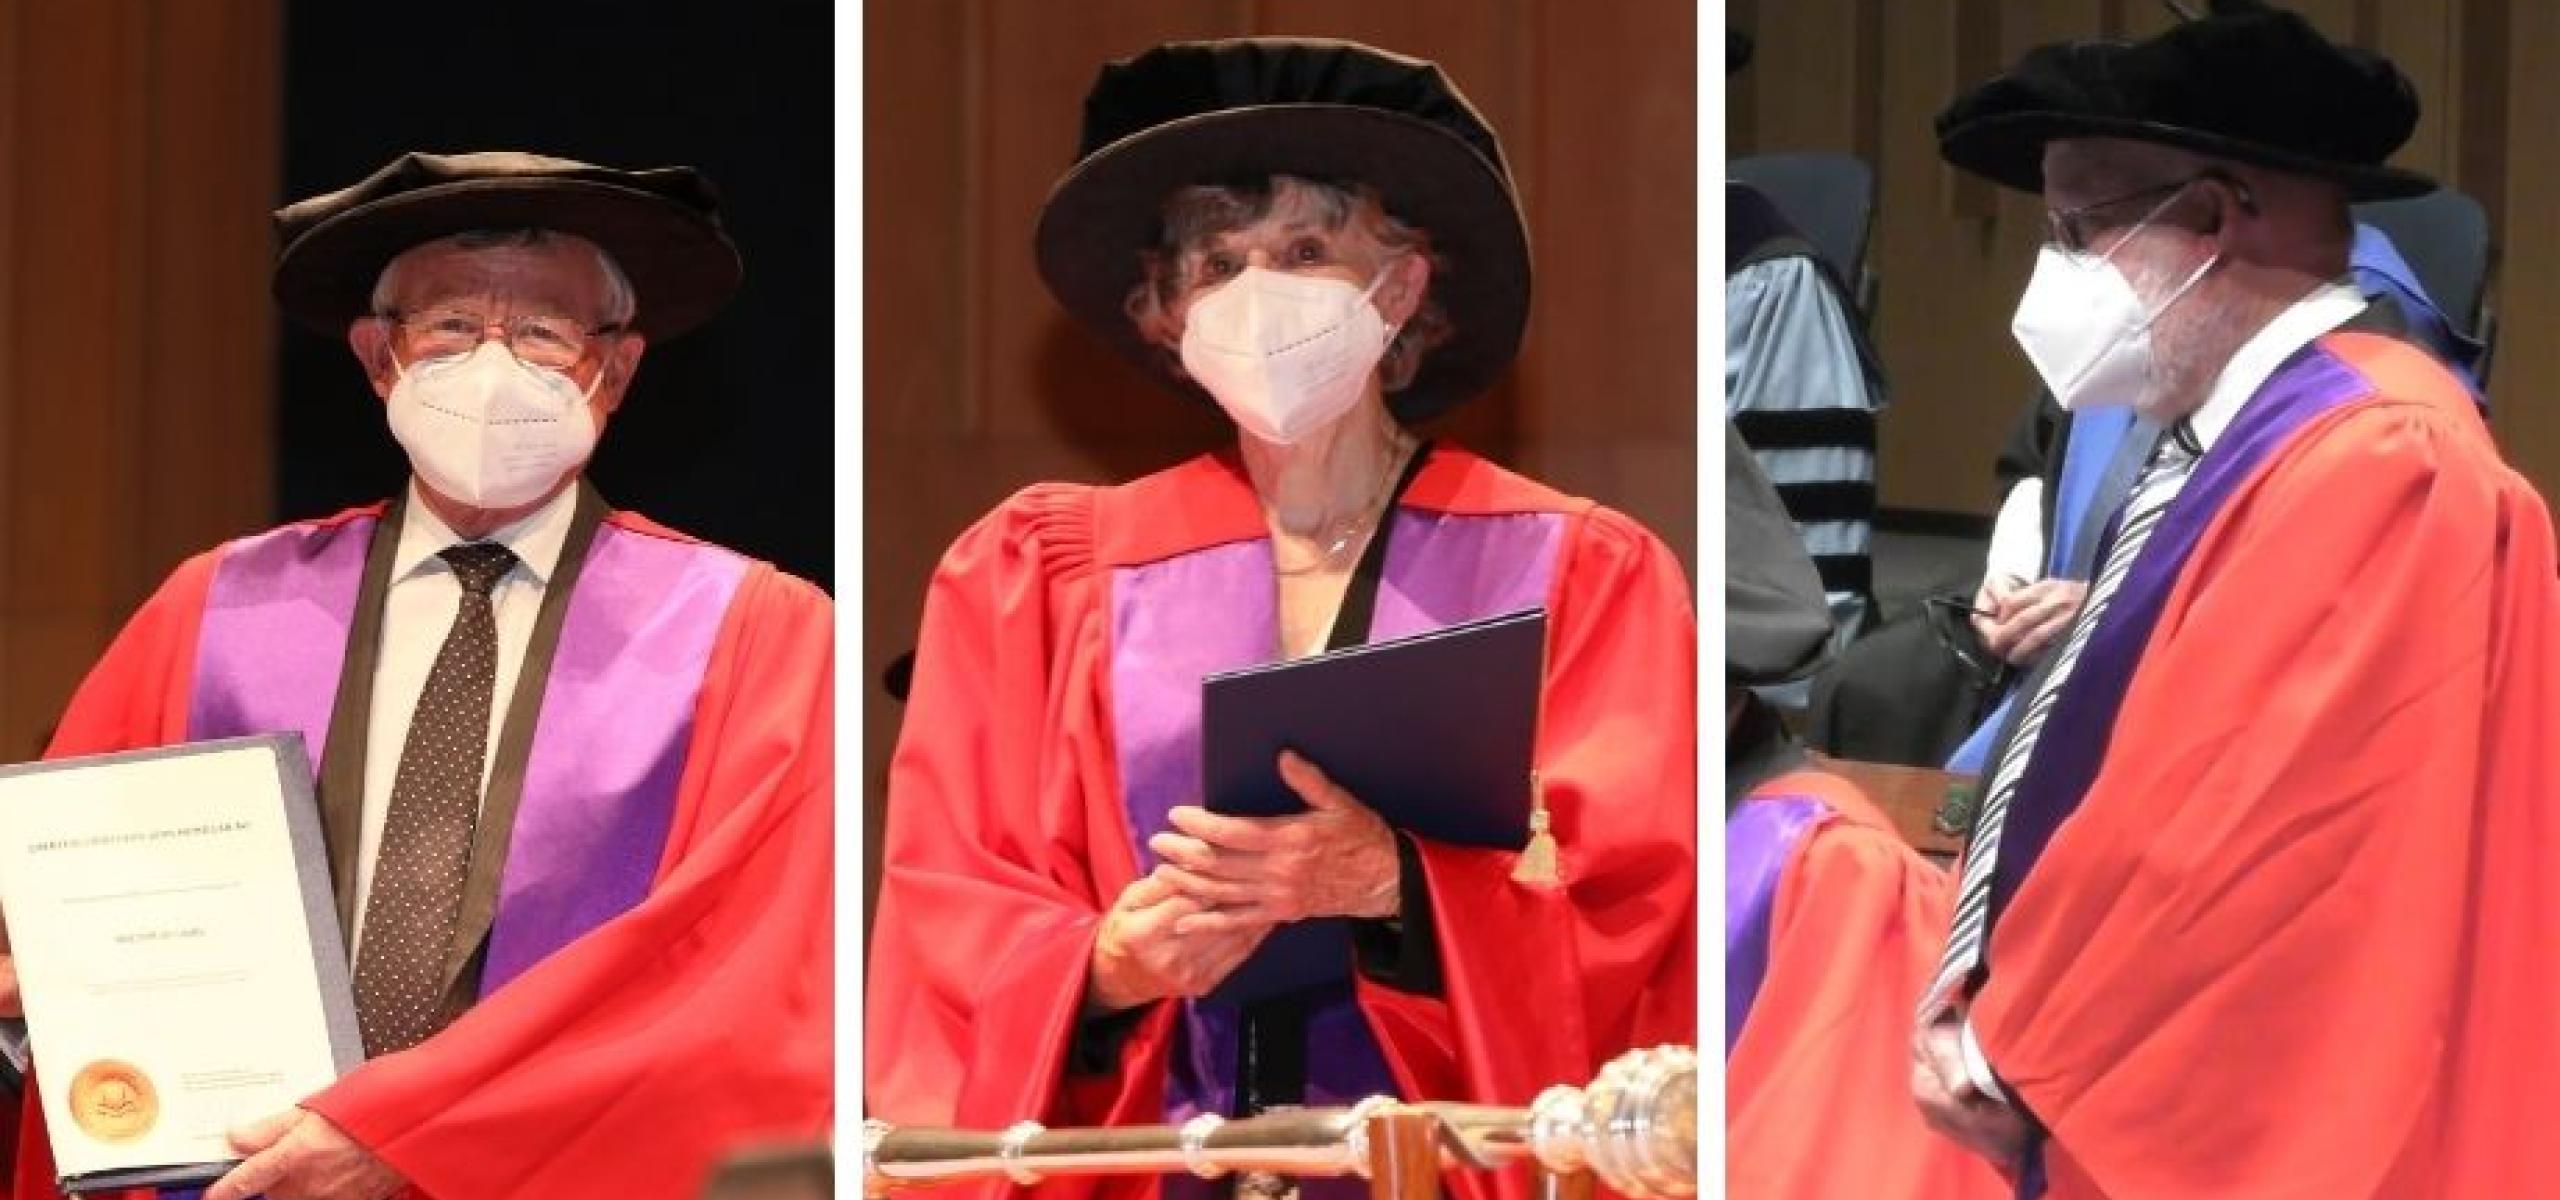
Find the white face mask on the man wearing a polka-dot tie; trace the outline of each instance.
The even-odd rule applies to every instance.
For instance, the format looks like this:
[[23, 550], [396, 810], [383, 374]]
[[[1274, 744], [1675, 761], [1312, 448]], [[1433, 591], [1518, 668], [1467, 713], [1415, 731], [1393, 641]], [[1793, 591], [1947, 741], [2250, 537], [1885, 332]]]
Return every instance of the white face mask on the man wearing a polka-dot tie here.
[[[417, 478], [474, 509], [532, 504], [596, 448], [586, 412], [594, 384], [579, 391], [558, 371], [538, 371], [499, 340], [453, 358], [399, 366], [384, 404], [392, 438], [410, 453]], [[596, 384], [604, 374], [596, 371]]]

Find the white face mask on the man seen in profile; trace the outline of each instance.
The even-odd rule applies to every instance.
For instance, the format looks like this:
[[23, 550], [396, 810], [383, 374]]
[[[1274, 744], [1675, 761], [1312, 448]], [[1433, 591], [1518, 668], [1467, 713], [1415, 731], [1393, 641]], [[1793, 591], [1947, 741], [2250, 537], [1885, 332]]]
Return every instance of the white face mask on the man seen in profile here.
[[2158, 374], [2150, 348], [2153, 322], [2186, 299], [2186, 292], [2220, 261], [2220, 253], [2207, 258], [2168, 302], [2145, 312], [2143, 297], [2112, 261], [2045, 246], [2035, 253], [2035, 276], [2017, 299], [2010, 335], [2063, 409], [2140, 404]]

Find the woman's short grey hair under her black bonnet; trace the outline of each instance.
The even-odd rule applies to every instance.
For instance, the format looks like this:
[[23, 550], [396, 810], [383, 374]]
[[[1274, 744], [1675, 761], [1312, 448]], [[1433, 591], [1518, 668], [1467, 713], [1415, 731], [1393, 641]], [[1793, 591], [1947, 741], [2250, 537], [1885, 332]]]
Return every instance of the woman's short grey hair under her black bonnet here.
[[1324, 220], [1324, 228], [1339, 233], [1344, 225], [1359, 225], [1390, 258], [1421, 253], [1431, 261], [1431, 289], [1413, 310], [1413, 317], [1395, 330], [1395, 340], [1388, 343], [1388, 353], [1377, 363], [1380, 386], [1385, 391], [1403, 391], [1421, 371], [1423, 353], [1457, 333], [1457, 325], [1449, 322], [1449, 310], [1439, 302], [1449, 264], [1439, 253], [1431, 253], [1431, 233], [1405, 225], [1388, 212], [1377, 189], [1367, 184], [1329, 184], [1324, 179], [1275, 174], [1260, 182], [1175, 189], [1165, 197], [1165, 220], [1157, 243], [1139, 251], [1139, 281], [1129, 289], [1129, 299], [1121, 307], [1137, 322], [1139, 335], [1172, 361], [1175, 374], [1183, 374], [1170, 304], [1190, 287], [1185, 253], [1221, 233], [1234, 233], [1267, 217], [1288, 187], [1306, 192], [1308, 207]]

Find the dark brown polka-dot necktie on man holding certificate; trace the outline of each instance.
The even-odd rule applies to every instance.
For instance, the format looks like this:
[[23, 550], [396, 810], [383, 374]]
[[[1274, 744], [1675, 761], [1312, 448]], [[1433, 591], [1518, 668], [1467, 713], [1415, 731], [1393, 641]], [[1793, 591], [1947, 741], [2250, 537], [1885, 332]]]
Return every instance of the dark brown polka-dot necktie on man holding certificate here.
[[461, 583], [428, 686], [410, 716], [410, 739], [392, 775], [374, 890], [356, 952], [356, 1021], [366, 1054], [392, 1054], [443, 1029], [445, 952], [471, 872], [481, 768], [489, 760], [489, 704], [497, 693], [497, 612], [489, 591], [515, 565], [494, 542], [443, 550]]

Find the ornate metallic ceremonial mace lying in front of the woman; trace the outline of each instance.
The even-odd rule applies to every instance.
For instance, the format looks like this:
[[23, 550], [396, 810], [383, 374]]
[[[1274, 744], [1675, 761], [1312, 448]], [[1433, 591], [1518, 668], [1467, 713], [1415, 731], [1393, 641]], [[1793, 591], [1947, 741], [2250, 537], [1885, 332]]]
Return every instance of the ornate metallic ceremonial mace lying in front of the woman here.
[[1398, 1103], [1372, 1095], [1349, 1108], [1295, 1108], [1239, 1121], [1198, 1116], [1180, 1126], [1042, 1128], [1001, 1133], [863, 1123], [863, 1192], [886, 1195], [955, 1180], [1050, 1174], [1229, 1172], [1359, 1174], [1380, 1180], [1390, 1146], [1377, 1118], [1423, 1116], [1439, 1162], [1492, 1169], [1536, 1162], [1554, 1174], [1592, 1172], [1628, 1197], [1697, 1192], [1697, 1052], [1656, 1046], [1620, 1054], [1590, 1087], [1549, 1087], [1528, 1108]]

